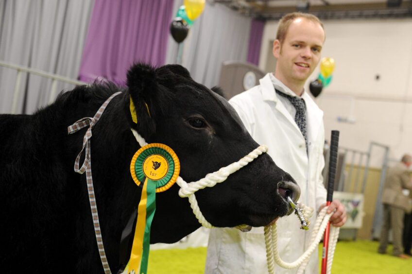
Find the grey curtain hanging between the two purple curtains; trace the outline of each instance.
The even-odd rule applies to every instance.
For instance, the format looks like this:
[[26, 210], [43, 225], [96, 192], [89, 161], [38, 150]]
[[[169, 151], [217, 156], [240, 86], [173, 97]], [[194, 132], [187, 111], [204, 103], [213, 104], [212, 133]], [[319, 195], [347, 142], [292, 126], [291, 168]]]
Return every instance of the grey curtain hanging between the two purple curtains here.
[[[177, 10], [178, 5], [175, 8]], [[173, 17], [175, 14], [176, 11]], [[206, 1], [202, 15], [195, 20], [183, 42], [182, 65], [189, 69], [195, 81], [207, 87], [216, 86], [224, 61], [246, 61], [251, 20], [222, 4]], [[166, 62], [175, 63], [176, 56], [177, 44], [171, 38]]]

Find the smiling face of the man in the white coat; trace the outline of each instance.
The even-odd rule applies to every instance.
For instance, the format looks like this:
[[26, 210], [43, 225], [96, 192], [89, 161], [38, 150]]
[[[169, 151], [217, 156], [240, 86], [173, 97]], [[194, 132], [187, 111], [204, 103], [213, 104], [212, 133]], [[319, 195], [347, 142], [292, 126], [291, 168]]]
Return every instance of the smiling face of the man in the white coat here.
[[303, 86], [319, 63], [324, 41], [325, 32], [320, 24], [296, 18], [283, 43], [274, 42], [276, 78], [289, 87]]

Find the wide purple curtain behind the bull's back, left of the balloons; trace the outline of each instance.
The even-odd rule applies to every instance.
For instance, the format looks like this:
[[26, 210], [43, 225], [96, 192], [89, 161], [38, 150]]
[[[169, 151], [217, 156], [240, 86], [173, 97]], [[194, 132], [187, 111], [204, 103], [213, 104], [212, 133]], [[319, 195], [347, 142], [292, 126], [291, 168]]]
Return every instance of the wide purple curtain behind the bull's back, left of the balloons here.
[[165, 63], [173, 0], [95, 0], [79, 79], [124, 85], [136, 61]]

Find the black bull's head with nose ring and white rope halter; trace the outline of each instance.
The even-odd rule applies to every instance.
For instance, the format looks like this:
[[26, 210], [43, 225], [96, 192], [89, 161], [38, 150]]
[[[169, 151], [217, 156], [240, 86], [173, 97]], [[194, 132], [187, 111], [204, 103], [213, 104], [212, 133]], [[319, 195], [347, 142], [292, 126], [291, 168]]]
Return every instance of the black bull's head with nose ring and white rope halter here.
[[[180, 176], [187, 182], [238, 161], [258, 147], [233, 107], [194, 82], [181, 66], [154, 69], [137, 64], [128, 72], [127, 85], [138, 121], [130, 116], [130, 102], [124, 102], [130, 126], [148, 143], [170, 146], [180, 159]], [[178, 197], [177, 190], [174, 185], [156, 194], [152, 242], [176, 241], [199, 227], [189, 202]], [[199, 190], [196, 197], [209, 223], [233, 227], [268, 225], [291, 213], [287, 196], [296, 201], [299, 194], [292, 177], [262, 154], [225, 182]]]

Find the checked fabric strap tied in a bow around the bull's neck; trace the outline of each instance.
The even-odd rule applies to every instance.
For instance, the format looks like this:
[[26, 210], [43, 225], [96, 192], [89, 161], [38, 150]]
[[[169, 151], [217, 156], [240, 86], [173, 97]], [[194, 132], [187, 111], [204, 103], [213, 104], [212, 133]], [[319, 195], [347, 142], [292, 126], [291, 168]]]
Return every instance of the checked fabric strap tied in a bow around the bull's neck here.
[[[93, 118], [90, 118], [90, 117], [82, 118], [67, 128], [68, 134], [73, 134], [81, 130], [82, 128], [85, 128], [86, 126], [88, 126], [85, 137], [83, 137], [83, 148], [80, 151], [80, 153], [77, 155], [76, 161], [74, 162], [74, 171], [80, 174], [83, 174], [86, 171], [87, 192], [89, 195], [90, 209], [91, 209], [91, 214], [93, 217], [94, 232], [96, 235], [97, 246], [99, 248], [100, 259], [102, 260], [103, 269], [104, 269], [105, 274], [111, 274], [111, 271], [109, 268], [109, 264], [107, 263], [106, 254], [104, 252], [102, 232], [100, 230], [100, 223], [99, 223], [99, 215], [97, 214], [96, 198], [94, 196], [93, 179], [91, 176], [90, 138], [92, 136], [91, 129], [102, 116], [104, 109], [109, 104], [109, 102], [115, 96], [119, 95], [120, 93], [121, 92], [116, 92], [112, 96], [110, 96], [106, 100], [106, 102], [104, 102], [103, 105], [99, 108], [99, 110], [97, 111], [97, 113], [94, 115]], [[80, 157], [83, 154], [83, 151], [85, 151], [85, 149], [86, 149], [85, 161], [83, 162], [82, 167], [79, 168]]]

